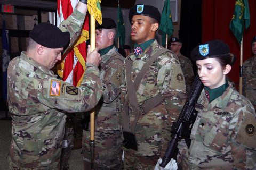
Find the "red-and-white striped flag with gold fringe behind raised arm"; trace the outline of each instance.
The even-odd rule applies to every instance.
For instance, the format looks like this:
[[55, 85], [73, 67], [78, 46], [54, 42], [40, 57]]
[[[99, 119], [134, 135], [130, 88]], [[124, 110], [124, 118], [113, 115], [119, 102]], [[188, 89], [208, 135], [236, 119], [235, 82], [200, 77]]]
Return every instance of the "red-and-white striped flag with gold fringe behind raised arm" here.
[[[57, 25], [68, 18], [79, 0], [58, 0]], [[86, 15], [81, 36], [78, 37], [73, 49], [62, 56], [62, 61], [57, 65], [57, 71], [62, 80], [80, 86], [85, 72], [86, 40], [89, 39], [89, 17]]]

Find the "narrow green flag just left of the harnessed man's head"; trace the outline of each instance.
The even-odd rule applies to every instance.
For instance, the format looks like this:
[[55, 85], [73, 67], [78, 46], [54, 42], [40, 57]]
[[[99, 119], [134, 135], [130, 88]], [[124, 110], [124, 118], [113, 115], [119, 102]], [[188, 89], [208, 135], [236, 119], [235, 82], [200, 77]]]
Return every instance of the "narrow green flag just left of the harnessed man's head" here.
[[120, 46], [123, 46], [125, 43], [125, 27], [123, 14], [119, 4], [117, 8], [117, 37], [119, 37]]

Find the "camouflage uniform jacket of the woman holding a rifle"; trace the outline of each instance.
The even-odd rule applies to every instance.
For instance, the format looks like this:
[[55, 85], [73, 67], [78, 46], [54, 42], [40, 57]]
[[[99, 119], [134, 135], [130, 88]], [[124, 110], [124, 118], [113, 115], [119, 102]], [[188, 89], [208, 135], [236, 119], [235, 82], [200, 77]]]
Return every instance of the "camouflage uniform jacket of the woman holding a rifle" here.
[[203, 90], [196, 105], [189, 150], [183, 169], [255, 169], [255, 110], [231, 83], [210, 104]]

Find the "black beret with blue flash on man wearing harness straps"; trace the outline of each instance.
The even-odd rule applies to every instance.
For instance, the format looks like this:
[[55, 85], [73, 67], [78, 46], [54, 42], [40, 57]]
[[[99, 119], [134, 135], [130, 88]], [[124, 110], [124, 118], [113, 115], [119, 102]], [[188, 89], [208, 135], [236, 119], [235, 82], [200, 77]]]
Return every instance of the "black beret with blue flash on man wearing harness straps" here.
[[159, 23], [161, 20], [161, 14], [158, 9], [154, 6], [144, 5], [144, 4], [137, 4], [134, 5], [131, 10], [129, 11], [129, 20], [132, 21], [132, 16], [134, 15], [143, 15], [149, 16], [151, 18], [156, 19]]

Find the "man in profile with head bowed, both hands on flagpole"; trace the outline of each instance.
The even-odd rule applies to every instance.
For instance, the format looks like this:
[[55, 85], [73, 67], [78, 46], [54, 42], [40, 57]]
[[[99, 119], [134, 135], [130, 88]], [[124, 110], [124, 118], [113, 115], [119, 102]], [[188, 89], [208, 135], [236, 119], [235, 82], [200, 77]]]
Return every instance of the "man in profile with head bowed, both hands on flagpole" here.
[[58, 79], [51, 69], [61, 60], [64, 47], [71, 47], [81, 33], [87, 12], [84, 3], [78, 2], [59, 27], [36, 25], [29, 33], [26, 52], [9, 63], [7, 95], [13, 135], [9, 169], [69, 169], [69, 156], [62, 157], [67, 156], [62, 147], [71, 151], [71, 141], [65, 142], [64, 137], [66, 113], [86, 112], [100, 100], [100, 54], [97, 49], [88, 53], [80, 87]]

